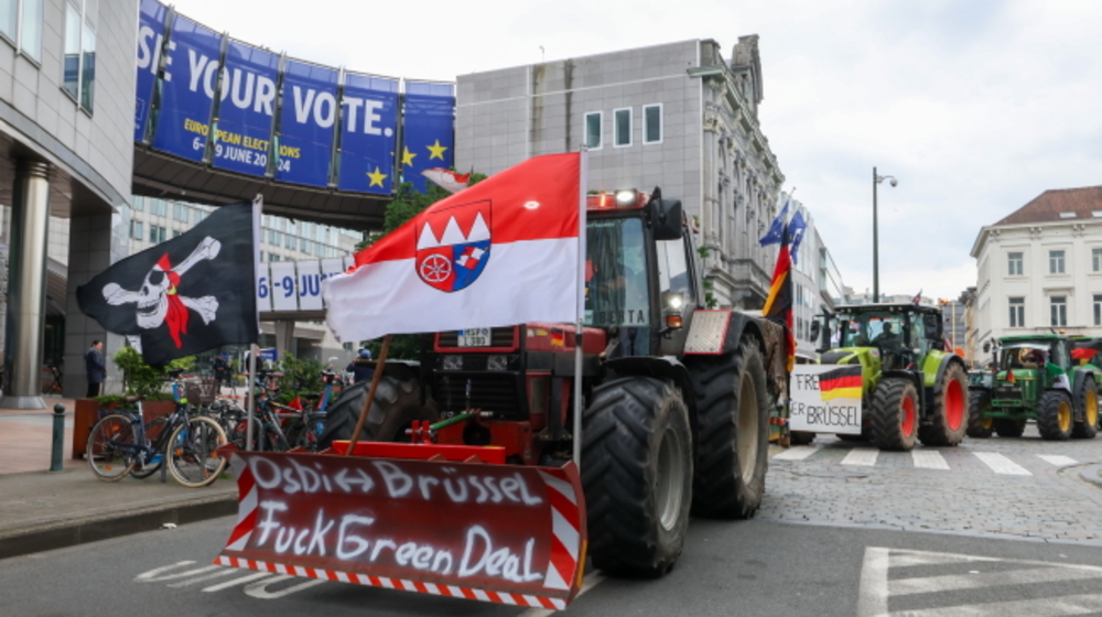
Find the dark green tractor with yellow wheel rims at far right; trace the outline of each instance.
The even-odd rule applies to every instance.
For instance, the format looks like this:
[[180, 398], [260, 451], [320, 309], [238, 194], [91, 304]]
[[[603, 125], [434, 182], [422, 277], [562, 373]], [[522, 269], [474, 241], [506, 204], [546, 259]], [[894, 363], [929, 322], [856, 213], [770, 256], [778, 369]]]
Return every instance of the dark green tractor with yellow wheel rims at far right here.
[[993, 369], [970, 376], [968, 435], [1018, 437], [1033, 420], [1045, 440], [1094, 439], [1100, 369], [1073, 357], [1091, 343], [1062, 334], [1000, 338]]

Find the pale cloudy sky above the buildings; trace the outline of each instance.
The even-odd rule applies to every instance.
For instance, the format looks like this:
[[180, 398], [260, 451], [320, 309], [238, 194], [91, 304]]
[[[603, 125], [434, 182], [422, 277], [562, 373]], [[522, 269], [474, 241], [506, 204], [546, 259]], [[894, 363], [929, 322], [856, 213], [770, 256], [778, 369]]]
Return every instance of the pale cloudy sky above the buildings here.
[[971, 250], [1050, 188], [1102, 184], [1102, 2], [177, 0], [235, 39], [357, 72], [451, 82], [507, 66], [758, 34], [758, 120], [844, 283], [955, 299]]

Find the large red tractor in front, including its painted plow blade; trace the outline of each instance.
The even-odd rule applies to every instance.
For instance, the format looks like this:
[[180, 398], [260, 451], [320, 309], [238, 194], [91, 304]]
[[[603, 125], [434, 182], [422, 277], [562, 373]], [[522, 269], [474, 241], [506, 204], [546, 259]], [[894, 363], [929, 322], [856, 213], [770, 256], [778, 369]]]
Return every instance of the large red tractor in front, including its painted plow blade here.
[[[253, 506], [251, 534], [242, 541], [249, 526], [239, 528], [219, 563], [561, 607], [581, 586], [586, 554], [613, 574], [660, 576], [681, 553], [690, 510], [752, 516], [788, 378], [782, 326], [705, 307], [689, 218], [658, 190], [591, 195], [586, 247], [580, 365], [574, 325], [423, 335], [419, 362], [380, 367], [354, 456], [242, 453], [256, 499], [281, 505]], [[345, 390], [322, 446], [348, 448], [367, 393], [366, 383]], [[329, 489], [315, 483], [324, 497], [289, 494], [287, 478], [302, 488], [311, 470], [328, 478]], [[338, 489], [355, 481], [365, 495]], [[338, 497], [344, 506], [333, 505]], [[276, 550], [292, 527], [315, 530], [303, 535], [309, 545], [332, 518], [326, 509], [344, 512], [333, 524], [368, 529], [370, 519], [386, 538], [374, 535], [369, 550], [371, 538], [349, 532], [322, 555], [298, 553], [299, 537], [284, 535], [292, 548]], [[421, 540], [401, 542], [413, 528]], [[413, 567], [418, 555], [425, 567]]]

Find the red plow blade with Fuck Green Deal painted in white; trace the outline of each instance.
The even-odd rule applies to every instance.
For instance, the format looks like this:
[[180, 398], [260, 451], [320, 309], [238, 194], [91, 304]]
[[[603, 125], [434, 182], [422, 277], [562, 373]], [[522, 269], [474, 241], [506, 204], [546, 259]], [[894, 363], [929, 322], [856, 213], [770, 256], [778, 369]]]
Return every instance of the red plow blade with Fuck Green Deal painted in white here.
[[[368, 454], [378, 446], [383, 455]], [[576, 467], [466, 462], [479, 450], [489, 448], [360, 442], [343, 456], [223, 446], [238, 519], [214, 563], [564, 608], [585, 563]]]

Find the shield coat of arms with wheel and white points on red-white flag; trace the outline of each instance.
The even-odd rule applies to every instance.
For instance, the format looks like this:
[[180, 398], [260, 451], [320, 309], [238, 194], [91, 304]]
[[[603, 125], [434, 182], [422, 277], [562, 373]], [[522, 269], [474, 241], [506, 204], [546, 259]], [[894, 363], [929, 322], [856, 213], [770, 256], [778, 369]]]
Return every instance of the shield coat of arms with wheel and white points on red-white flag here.
[[444, 292], [466, 289], [489, 261], [490, 202], [426, 213], [417, 230], [417, 273]]

